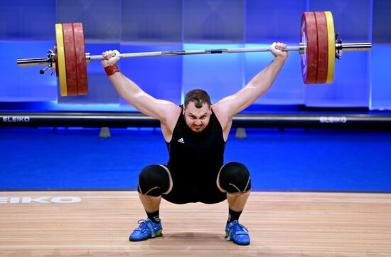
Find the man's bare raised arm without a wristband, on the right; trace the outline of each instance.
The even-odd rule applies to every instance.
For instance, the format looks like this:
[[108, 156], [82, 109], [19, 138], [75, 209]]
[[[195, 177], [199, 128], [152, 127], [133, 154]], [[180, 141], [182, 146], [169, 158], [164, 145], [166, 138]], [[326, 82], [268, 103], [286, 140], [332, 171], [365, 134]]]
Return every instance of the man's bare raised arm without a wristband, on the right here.
[[273, 84], [277, 78], [279, 71], [284, 65], [286, 58], [288, 58], [288, 52], [282, 51], [286, 48], [284, 43], [273, 43], [272, 53], [276, 58], [270, 63], [264, 70], [255, 75], [247, 85], [239, 90], [234, 95], [230, 95], [223, 98], [215, 104], [215, 108], [218, 110], [224, 110], [225, 114], [232, 117], [244, 110], [257, 100], [263, 93], [265, 93]]

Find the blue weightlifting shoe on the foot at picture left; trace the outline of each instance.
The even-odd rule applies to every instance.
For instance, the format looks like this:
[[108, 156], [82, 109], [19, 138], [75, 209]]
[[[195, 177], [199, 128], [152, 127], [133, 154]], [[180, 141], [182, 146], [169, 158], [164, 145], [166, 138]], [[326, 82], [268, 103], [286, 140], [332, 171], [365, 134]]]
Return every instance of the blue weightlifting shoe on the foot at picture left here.
[[134, 229], [132, 234], [130, 234], [129, 241], [142, 241], [148, 238], [163, 236], [163, 234], [161, 234], [161, 231], [163, 231], [161, 221], [159, 221], [158, 224], [150, 219], [140, 219], [137, 223], [140, 224], [140, 226], [137, 229]]

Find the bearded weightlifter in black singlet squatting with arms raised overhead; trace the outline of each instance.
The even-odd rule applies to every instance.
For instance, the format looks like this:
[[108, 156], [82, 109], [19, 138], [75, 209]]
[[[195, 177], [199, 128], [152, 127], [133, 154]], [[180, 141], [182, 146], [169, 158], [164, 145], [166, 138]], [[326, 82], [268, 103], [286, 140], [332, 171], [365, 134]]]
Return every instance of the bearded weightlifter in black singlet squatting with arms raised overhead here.
[[223, 156], [232, 117], [270, 88], [288, 58], [288, 52], [282, 51], [284, 43], [273, 43], [271, 48], [274, 61], [234, 95], [212, 104], [208, 93], [195, 89], [180, 106], [148, 95], [124, 76], [116, 64], [117, 50], [102, 53], [102, 66], [119, 95], [160, 121], [169, 153], [167, 164], [151, 164], [139, 174], [137, 190], [147, 219], [139, 220], [130, 241], [162, 236], [159, 206], [163, 197], [174, 204], [215, 204], [227, 199], [225, 238], [239, 245], [250, 244], [247, 228], [238, 221], [250, 195], [250, 172], [239, 162], [224, 164]]

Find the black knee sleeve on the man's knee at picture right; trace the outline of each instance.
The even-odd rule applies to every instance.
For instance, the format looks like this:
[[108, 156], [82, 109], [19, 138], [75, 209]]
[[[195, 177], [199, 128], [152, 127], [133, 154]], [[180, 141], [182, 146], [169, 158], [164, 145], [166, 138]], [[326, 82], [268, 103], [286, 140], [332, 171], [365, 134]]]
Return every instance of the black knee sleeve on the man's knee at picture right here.
[[220, 170], [218, 183], [229, 194], [248, 192], [251, 189], [250, 172], [244, 164], [228, 162]]

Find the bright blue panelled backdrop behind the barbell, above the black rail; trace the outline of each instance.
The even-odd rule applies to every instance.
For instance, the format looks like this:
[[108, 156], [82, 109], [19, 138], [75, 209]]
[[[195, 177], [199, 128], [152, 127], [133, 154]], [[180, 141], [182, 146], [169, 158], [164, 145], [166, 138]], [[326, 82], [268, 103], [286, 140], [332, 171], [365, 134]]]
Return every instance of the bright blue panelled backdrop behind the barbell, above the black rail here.
[[[391, 109], [391, 2], [387, 0], [18, 0], [0, 2], [0, 102], [36, 102], [34, 110], [134, 110], [119, 98], [99, 61], [88, 65], [90, 94], [58, 98], [55, 76], [16, 67], [45, 56], [55, 23], [82, 22], [86, 51], [100, 54], [299, 43], [301, 14], [331, 11], [344, 42], [372, 41], [371, 52], [346, 52], [331, 85], [304, 85], [291, 53], [275, 85], [256, 104]], [[235, 93], [272, 60], [270, 53], [176, 56], [120, 61], [124, 74], [156, 98], [181, 103], [204, 88], [213, 101]], [[15, 106], [15, 105], [12, 105]]]

